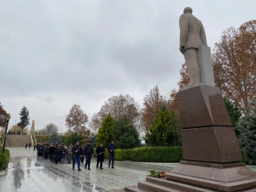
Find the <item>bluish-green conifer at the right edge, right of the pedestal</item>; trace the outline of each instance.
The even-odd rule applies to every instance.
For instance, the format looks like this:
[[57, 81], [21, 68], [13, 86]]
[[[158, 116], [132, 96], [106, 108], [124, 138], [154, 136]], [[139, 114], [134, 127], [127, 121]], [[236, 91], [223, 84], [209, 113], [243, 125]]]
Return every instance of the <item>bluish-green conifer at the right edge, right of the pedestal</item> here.
[[247, 164], [256, 164], [256, 102], [252, 106], [252, 113], [244, 115], [236, 127], [240, 131], [238, 141]]

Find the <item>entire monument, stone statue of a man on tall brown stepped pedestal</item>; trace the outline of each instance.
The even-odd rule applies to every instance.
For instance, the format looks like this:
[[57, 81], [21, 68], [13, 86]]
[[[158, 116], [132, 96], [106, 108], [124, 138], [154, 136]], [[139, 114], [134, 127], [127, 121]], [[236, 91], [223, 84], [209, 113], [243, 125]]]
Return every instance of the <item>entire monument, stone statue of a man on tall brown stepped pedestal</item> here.
[[147, 177], [127, 191], [256, 191], [256, 173], [241, 163], [238, 138], [219, 88], [214, 87], [204, 27], [185, 8], [180, 51], [191, 84], [178, 92], [183, 159], [165, 179]]

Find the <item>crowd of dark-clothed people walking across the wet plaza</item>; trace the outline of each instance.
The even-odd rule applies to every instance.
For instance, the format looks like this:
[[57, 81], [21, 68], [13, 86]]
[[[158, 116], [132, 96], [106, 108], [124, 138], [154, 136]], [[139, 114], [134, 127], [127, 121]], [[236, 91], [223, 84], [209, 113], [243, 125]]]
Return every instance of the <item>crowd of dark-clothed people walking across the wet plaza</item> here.
[[[34, 146], [34, 150], [37, 150], [38, 158], [42, 157], [45, 159], [49, 159], [52, 163], [55, 164], [71, 164], [72, 161], [72, 168], [75, 170], [75, 163], [78, 164], [78, 170], [80, 168], [80, 162], [83, 164], [85, 161], [85, 169], [91, 170], [91, 157], [94, 156], [94, 148], [91, 147], [91, 141], [88, 141], [88, 144], [80, 145], [80, 142], [77, 141], [75, 145], [68, 145], [68, 144], [37, 144]], [[108, 153], [109, 153], [109, 163], [108, 167], [114, 167], [115, 161], [115, 151], [116, 146], [114, 141], [111, 141], [111, 144], [108, 144]], [[104, 154], [105, 147], [103, 144], [100, 144], [96, 148], [97, 154], [97, 168], [99, 166], [100, 169], [103, 169], [103, 161], [104, 161]]]

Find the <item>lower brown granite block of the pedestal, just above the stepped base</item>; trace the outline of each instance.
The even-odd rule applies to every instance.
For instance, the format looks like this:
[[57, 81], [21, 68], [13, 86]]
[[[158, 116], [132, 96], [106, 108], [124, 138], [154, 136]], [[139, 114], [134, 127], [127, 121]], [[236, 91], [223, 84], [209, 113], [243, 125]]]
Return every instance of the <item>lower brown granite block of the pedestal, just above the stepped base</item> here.
[[241, 161], [238, 138], [232, 127], [198, 127], [181, 130], [183, 159], [191, 161]]

